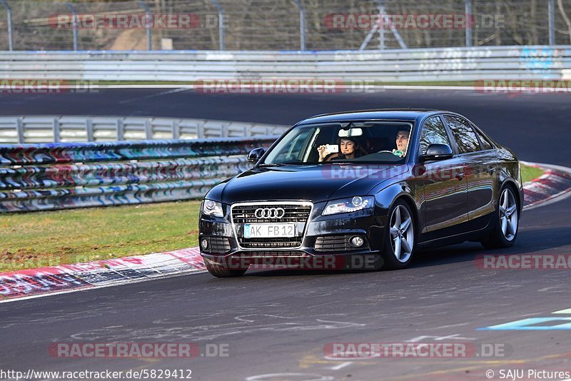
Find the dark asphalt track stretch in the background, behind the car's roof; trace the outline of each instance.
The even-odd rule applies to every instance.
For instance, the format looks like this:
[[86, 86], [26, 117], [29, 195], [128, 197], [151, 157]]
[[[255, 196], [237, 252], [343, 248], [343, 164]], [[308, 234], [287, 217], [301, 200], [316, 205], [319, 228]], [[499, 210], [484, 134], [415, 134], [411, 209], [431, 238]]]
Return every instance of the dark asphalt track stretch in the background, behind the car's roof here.
[[189, 89], [99, 90], [85, 94], [0, 93], [0, 115], [101, 115], [209, 118], [293, 124], [319, 113], [364, 108], [440, 108], [464, 114], [527, 161], [571, 167], [571, 96], [475, 91], [202, 94]]

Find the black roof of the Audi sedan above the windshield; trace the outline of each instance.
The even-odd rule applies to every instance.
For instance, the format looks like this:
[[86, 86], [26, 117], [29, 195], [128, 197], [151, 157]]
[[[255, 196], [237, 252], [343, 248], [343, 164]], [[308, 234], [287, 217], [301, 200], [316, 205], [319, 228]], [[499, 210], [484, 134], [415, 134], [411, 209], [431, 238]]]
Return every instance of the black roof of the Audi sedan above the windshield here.
[[300, 121], [298, 124], [386, 119], [393, 119], [395, 121], [415, 121], [419, 117], [442, 112], [448, 113], [448, 111], [426, 108], [380, 108], [375, 110], [343, 111], [340, 113], [324, 113], [321, 115], [311, 116], [310, 118]]

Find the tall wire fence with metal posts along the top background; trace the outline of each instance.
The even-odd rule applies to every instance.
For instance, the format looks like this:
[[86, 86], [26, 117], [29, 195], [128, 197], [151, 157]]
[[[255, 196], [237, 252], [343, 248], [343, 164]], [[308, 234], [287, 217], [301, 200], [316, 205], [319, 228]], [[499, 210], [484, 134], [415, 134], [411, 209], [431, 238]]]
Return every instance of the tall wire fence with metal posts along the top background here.
[[571, 0], [0, 0], [0, 50], [550, 44], [571, 44]]

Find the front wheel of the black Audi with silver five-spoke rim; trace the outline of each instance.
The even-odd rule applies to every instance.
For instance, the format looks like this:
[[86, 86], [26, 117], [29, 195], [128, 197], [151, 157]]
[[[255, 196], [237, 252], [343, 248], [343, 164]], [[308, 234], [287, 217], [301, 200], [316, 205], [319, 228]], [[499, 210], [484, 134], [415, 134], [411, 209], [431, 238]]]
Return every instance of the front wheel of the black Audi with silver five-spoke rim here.
[[415, 218], [404, 200], [397, 200], [388, 215], [381, 269], [400, 270], [413, 261], [416, 248]]

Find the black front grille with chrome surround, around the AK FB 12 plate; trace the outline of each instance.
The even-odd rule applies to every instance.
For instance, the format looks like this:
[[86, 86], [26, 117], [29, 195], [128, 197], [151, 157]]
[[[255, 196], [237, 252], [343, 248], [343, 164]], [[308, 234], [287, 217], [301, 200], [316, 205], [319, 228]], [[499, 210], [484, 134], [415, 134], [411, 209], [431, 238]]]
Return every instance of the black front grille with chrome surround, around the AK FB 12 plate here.
[[[283, 208], [282, 218], [257, 218], [258, 208]], [[248, 249], [284, 249], [298, 248], [303, 240], [303, 232], [311, 213], [308, 203], [256, 203], [236, 205], [232, 208], [232, 221], [236, 227], [236, 236], [241, 248]], [[244, 238], [243, 225], [246, 223], [295, 223], [295, 237]]]

